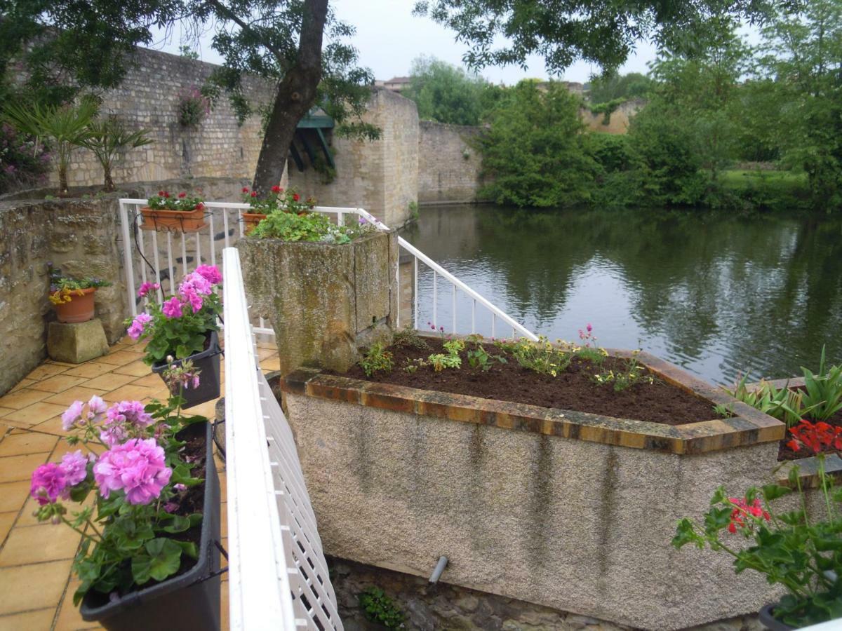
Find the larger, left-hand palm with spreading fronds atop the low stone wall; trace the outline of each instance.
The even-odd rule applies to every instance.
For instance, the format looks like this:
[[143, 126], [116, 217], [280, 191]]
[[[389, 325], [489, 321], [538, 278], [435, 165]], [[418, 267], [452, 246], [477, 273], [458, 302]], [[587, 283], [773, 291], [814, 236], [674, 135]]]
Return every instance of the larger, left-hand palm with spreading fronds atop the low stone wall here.
[[88, 124], [96, 114], [97, 105], [89, 99], [78, 105], [22, 105], [6, 103], [3, 119], [24, 134], [35, 136], [38, 141], [50, 141], [56, 151], [58, 188], [60, 195], [67, 195], [67, 167], [70, 155], [77, 146], [88, 139]]

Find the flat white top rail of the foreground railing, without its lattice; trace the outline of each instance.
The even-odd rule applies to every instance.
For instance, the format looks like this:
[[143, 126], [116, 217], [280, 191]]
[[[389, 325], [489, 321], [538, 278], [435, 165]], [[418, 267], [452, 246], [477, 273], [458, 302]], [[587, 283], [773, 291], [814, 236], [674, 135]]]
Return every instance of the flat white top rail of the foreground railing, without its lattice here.
[[296, 616], [237, 249], [226, 247], [222, 262], [230, 628], [291, 630]]

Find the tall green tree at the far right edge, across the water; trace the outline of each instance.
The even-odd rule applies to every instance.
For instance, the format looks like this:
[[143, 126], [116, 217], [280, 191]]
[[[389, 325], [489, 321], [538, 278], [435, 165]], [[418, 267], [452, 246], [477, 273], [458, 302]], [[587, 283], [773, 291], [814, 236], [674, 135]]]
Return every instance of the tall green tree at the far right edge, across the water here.
[[[813, 205], [842, 206], [842, 2], [811, 0], [775, 13], [762, 34], [760, 84], [786, 165], [807, 172]], [[776, 115], [774, 115], [776, 113]]]

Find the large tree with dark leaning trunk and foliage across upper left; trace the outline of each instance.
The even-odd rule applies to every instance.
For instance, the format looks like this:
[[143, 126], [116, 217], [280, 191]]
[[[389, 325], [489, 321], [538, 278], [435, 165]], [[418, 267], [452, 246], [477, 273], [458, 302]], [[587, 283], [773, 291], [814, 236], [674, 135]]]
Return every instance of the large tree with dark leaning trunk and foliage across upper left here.
[[151, 43], [154, 27], [179, 22], [197, 37], [213, 31], [224, 64], [208, 89], [217, 96], [224, 89], [241, 117], [258, 109], [245, 77], [274, 84], [272, 102], [259, 109], [258, 192], [278, 183], [296, 125], [315, 105], [333, 116], [340, 134], [378, 135], [360, 119], [373, 77], [356, 65], [346, 41], [354, 29], [335, 18], [328, 0], [0, 0], [0, 71], [6, 76], [22, 63], [33, 91], [54, 88], [36, 98], [53, 102], [78, 88], [115, 87], [134, 46]]

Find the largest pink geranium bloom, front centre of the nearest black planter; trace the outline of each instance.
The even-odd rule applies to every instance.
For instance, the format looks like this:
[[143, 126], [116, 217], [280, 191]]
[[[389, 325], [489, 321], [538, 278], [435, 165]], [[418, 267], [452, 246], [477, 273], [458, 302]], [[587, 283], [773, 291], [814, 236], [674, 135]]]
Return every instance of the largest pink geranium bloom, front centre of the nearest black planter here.
[[93, 465], [93, 478], [105, 499], [112, 491], [124, 490], [130, 504], [149, 504], [161, 495], [173, 470], [164, 461], [164, 452], [154, 440], [132, 438], [99, 457]]

